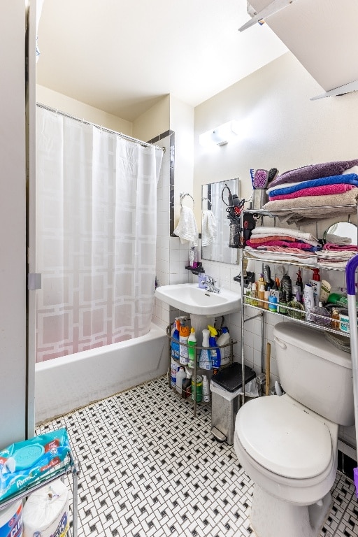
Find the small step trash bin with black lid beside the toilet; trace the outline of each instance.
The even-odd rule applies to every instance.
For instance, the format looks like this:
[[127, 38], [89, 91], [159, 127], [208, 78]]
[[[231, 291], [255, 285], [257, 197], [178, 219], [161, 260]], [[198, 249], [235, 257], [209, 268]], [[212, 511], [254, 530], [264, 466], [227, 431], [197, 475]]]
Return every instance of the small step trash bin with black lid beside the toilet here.
[[[245, 366], [245, 383], [255, 377], [255, 371]], [[240, 408], [242, 387], [243, 375], [238, 362], [214, 375], [210, 381], [211, 432], [217, 440], [229, 445], [234, 443], [235, 419]]]

